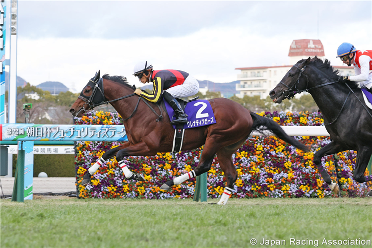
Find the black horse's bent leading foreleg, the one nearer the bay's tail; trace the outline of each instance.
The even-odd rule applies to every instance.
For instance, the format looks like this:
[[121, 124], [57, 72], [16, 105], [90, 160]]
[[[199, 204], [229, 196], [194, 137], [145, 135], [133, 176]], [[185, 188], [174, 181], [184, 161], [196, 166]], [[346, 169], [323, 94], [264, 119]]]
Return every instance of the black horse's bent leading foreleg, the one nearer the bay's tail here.
[[334, 183], [329, 176], [328, 172], [324, 169], [321, 165], [321, 158], [327, 155], [335, 154], [338, 152], [344, 151], [346, 148], [342, 147], [341, 144], [336, 143], [335, 141], [331, 141], [328, 145], [321, 148], [319, 151], [315, 152], [314, 154], [314, 164], [318, 168], [321, 177], [323, 178], [324, 182], [332, 189], [335, 194], [338, 194], [340, 191], [339, 186]]

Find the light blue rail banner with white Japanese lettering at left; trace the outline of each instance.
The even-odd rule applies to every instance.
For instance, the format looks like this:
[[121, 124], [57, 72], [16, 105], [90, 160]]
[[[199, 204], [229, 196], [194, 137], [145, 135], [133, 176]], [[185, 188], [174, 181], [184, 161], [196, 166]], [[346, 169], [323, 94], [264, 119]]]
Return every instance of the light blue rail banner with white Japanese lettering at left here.
[[128, 141], [124, 125], [0, 124], [0, 141]]

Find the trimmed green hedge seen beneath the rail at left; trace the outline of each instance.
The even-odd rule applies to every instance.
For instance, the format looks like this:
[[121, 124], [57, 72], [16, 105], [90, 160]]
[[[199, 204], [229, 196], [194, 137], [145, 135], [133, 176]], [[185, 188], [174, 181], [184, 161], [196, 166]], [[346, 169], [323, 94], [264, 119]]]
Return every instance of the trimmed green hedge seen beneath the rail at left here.
[[[74, 154], [34, 154], [34, 177], [40, 172], [45, 172], [48, 177], [75, 177]], [[13, 177], [17, 155], [13, 154]]]

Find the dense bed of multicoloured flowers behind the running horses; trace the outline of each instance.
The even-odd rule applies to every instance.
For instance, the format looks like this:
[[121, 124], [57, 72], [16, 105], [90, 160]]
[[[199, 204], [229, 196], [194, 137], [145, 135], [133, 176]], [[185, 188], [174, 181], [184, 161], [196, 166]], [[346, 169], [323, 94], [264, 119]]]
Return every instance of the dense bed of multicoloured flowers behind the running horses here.
[[[262, 112], [261, 116], [273, 119], [280, 125], [323, 125], [320, 113]], [[117, 113], [90, 112], [87, 117], [76, 118], [76, 124], [122, 124]], [[276, 137], [253, 136], [233, 154], [238, 180], [232, 197], [329, 197], [332, 191], [324, 183], [316, 166], [313, 153], [330, 142], [329, 137], [297, 136], [296, 139], [311, 146], [304, 153]], [[119, 142], [76, 142], [75, 165], [80, 197], [94, 198], [189, 198], [193, 197], [195, 179], [174, 186], [172, 191], [160, 190], [166, 181], [195, 169], [202, 148], [179, 153], [158, 153], [154, 157], [128, 157], [127, 165], [133, 173], [143, 173], [146, 182], [126, 180], [115, 157], [106, 161], [93, 175], [92, 184], [80, 185], [86, 170], [102, 154], [118, 146]], [[341, 193], [346, 196], [364, 196], [372, 183], [359, 184], [353, 179], [356, 152], [338, 154]], [[322, 159], [323, 166], [336, 181], [335, 165], [330, 156]], [[366, 175], [369, 172], [366, 171]], [[225, 187], [224, 174], [215, 157], [208, 172], [208, 197], [218, 198]]]

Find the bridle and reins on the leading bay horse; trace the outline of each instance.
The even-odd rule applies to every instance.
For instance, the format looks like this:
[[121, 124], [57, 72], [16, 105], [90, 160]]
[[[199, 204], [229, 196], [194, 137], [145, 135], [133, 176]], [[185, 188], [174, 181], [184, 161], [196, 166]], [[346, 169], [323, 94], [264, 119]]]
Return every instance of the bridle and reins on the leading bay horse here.
[[[128, 97], [131, 97], [131, 96], [137, 95], [137, 94], [135, 94], [135, 93], [132, 93], [132, 94], [129, 94], [129, 95], [126, 95], [126, 96], [122, 96], [122, 97], [119, 97], [119, 98], [114, 99], [114, 100], [111, 100], [111, 101], [106, 101], [105, 95], [104, 95], [104, 93], [103, 93], [103, 79], [102, 79], [102, 78], [99, 78], [99, 79], [97, 79], [97, 81], [93, 81], [93, 80], [90, 79], [89, 81], [95, 84], [95, 86], [94, 86], [94, 88], [93, 88], [93, 93], [92, 93], [92, 95], [91, 95], [89, 98], [87, 98], [86, 96], [84, 96], [84, 95], [82, 94], [82, 92], [80, 93], [80, 95], [78, 96], [78, 98], [81, 99], [81, 100], [83, 100], [83, 101], [85, 102], [85, 103], [83, 104], [83, 107], [82, 107], [82, 109], [81, 109], [80, 111], [83, 110], [83, 111], [87, 112], [87, 111], [89, 111], [89, 110], [91, 110], [91, 109], [94, 109], [94, 108], [97, 107], [97, 106], [101, 106], [101, 105], [103, 105], [103, 104], [109, 104], [109, 103], [111, 103], [111, 102], [119, 101], [119, 100], [122, 100], [122, 99], [125, 99], [125, 98], [128, 98]], [[102, 84], [101, 84], [101, 82], [102, 82]], [[101, 84], [102, 86], [100, 86], [100, 84]], [[102, 87], [102, 89], [101, 89], [101, 87]], [[96, 92], [97, 92], [97, 89], [99, 89], [99, 91], [100, 91], [100, 93], [101, 93], [100, 100], [101, 100], [101, 99], [103, 99], [103, 100], [102, 100], [101, 102], [99, 102], [99, 103], [94, 103], [94, 102], [93, 102], [93, 98], [94, 98], [94, 96], [95, 96], [95, 94], [96, 94]], [[147, 105], [147, 106], [152, 110], [152, 112], [154, 112], [155, 115], [156, 115], [157, 117], [159, 117], [158, 119], [156, 119], [156, 122], [159, 122], [160, 119], [163, 118], [163, 115], [161, 114], [162, 111], [161, 111], [161, 108], [160, 108], [159, 104], [156, 104], [156, 105], [158, 106], [158, 108], [159, 108], [159, 110], [160, 110], [160, 115], [158, 115], [158, 113], [156, 113], [156, 111], [155, 111], [155, 110], [150, 106], [150, 104], [148, 104], [147, 101], [145, 101], [145, 99], [144, 99], [143, 97], [141, 97], [141, 96], [138, 97], [137, 104], [136, 104], [136, 106], [135, 106], [135, 108], [134, 108], [132, 114], [131, 114], [128, 118], [123, 119], [123, 121], [126, 121], [126, 120], [132, 118], [132, 116], [134, 115], [134, 113], [137, 111], [137, 107], [138, 107], [138, 105], [139, 105], [139, 101], [140, 101], [141, 99], [142, 99], [143, 102], [144, 102], [144, 103], [145, 103], [145, 104], [146, 104], [146, 105]], [[85, 109], [85, 107], [84, 107], [85, 104], [87, 104], [87, 105], [89, 106], [88, 109]], [[80, 111], [79, 111], [79, 112], [80, 112]], [[78, 114], [78, 113], [77, 113], [77, 114]], [[76, 114], [76, 115], [77, 115], [77, 114]]]

